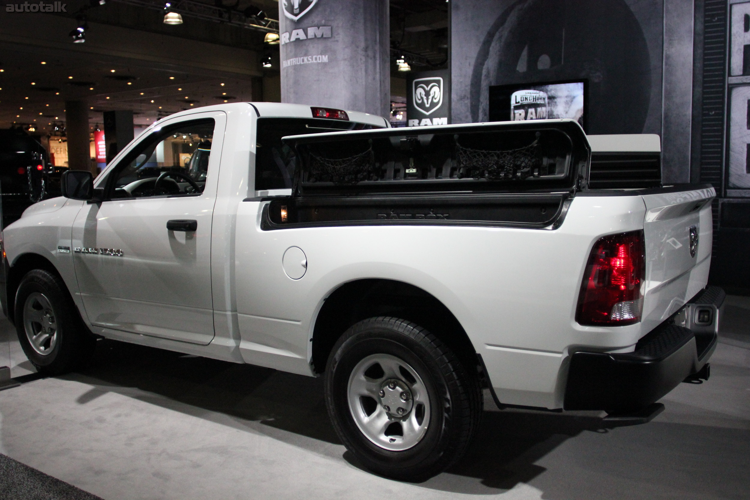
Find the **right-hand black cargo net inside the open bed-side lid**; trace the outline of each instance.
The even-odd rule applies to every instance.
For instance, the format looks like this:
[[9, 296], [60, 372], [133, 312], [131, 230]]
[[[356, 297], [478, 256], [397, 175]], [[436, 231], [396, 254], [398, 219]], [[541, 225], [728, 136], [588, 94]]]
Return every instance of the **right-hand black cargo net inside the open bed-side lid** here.
[[464, 177], [486, 178], [490, 181], [525, 179], [538, 175], [542, 160], [539, 140], [523, 148], [506, 151], [486, 151], [464, 148], [456, 141], [458, 168]]

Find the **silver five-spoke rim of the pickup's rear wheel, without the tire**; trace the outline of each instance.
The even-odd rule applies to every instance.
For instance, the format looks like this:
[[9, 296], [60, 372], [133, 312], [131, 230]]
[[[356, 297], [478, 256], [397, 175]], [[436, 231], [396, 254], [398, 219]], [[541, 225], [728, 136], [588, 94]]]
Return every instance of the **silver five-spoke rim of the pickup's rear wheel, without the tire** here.
[[403, 360], [374, 354], [349, 377], [349, 409], [359, 430], [380, 448], [403, 451], [419, 443], [430, 422], [424, 382]]

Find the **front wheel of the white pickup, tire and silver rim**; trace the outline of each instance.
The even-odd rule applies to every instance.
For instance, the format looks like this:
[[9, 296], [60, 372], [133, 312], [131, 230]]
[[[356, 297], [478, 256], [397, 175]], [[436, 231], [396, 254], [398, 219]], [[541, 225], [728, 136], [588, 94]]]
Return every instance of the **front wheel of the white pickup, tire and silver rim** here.
[[59, 375], [88, 361], [96, 346], [65, 283], [42, 269], [29, 271], [16, 293], [16, 331], [28, 361], [40, 373]]

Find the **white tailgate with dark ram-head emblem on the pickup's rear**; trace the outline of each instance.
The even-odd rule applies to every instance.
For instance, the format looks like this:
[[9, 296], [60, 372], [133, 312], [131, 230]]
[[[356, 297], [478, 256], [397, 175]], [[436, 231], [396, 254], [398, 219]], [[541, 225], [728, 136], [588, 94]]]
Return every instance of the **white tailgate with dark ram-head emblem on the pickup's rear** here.
[[651, 331], [708, 282], [712, 187], [643, 195], [646, 292], [643, 327]]

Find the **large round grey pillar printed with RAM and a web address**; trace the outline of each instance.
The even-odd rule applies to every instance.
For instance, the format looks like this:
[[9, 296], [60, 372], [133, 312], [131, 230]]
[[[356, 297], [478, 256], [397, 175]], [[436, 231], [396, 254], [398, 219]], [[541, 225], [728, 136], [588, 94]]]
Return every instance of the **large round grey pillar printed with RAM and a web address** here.
[[281, 0], [279, 19], [281, 102], [388, 116], [388, 0]]

